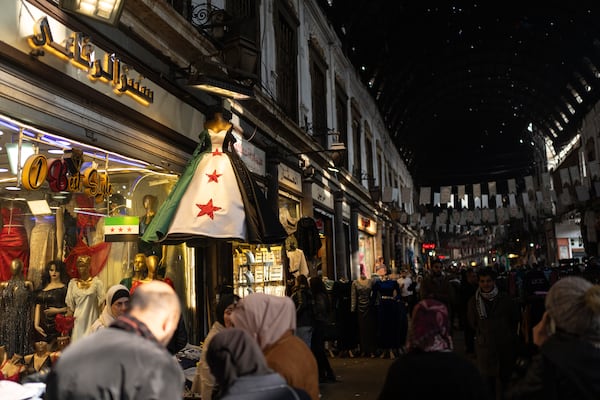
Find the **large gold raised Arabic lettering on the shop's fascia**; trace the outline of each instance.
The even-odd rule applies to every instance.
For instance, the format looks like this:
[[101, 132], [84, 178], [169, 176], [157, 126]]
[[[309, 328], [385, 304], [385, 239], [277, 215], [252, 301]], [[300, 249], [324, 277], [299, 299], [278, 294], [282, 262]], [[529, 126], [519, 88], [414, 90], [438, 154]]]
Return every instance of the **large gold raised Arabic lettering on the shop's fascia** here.
[[90, 80], [111, 85], [117, 95], [126, 94], [145, 106], [154, 102], [154, 92], [142, 86], [141, 75], [137, 80], [130, 78], [130, 67], [114, 53], [105, 53], [103, 60], [96, 60], [91, 38], [81, 32], [71, 33], [65, 44], [59, 44], [54, 41], [48, 18], [42, 17], [35, 23], [34, 34], [27, 42], [34, 50], [43, 50], [87, 71]]

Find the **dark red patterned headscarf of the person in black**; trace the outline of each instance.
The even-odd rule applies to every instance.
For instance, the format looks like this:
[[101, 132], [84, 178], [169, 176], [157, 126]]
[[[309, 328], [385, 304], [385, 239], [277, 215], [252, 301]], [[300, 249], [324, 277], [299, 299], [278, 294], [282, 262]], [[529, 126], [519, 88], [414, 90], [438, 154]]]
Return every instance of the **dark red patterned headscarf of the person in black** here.
[[409, 351], [452, 350], [450, 319], [444, 303], [424, 299], [415, 305], [408, 334]]

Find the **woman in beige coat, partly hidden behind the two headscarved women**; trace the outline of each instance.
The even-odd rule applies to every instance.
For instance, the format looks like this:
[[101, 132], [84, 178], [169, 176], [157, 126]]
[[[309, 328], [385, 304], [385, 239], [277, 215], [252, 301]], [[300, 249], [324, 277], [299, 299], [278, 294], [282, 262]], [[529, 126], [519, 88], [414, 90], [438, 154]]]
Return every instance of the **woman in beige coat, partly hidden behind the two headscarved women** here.
[[233, 312], [240, 297], [235, 294], [222, 294], [215, 308], [216, 321], [213, 322], [210, 331], [202, 343], [202, 353], [200, 362], [196, 367], [196, 375], [192, 382], [192, 392], [200, 393], [203, 400], [211, 400], [215, 389], [215, 377], [213, 376], [208, 363], [206, 362], [206, 350], [215, 335], [226, 328], [233, 326], [231, 322], [231, 313]]

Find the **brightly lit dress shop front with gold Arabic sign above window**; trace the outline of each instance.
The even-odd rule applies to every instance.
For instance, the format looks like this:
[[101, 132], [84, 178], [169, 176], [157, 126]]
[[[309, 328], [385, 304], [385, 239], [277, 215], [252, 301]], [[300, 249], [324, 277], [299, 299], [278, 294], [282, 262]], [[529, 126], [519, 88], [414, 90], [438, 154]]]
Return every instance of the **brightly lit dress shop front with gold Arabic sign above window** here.
[[64, 260], [72, 271], [76, 256], [88, 254], [106, 290], [130, 278], [144, 253], [157, 278], [172, 282], [194, 338], [196, 250], [139, 236], [177, 182], [204, 116], [97, 46], [96, 39], [106, 43], [101, 37], [30, 3], [4, 11], [0, 208], [12, 247], [0, 246], [1, 280], [18, 257], [24, 278], [43, 289], [49, 261]]

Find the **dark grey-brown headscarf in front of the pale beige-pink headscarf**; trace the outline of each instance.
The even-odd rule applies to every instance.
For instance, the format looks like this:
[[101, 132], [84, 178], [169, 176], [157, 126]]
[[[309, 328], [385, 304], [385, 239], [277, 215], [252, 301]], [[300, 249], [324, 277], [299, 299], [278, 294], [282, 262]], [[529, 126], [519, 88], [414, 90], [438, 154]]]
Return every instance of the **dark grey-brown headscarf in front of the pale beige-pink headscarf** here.
[[222, 391], [239, 377], [273, 373], [256, 340], [239, 328], [225, 329], [213, 336], [206, 362]]

